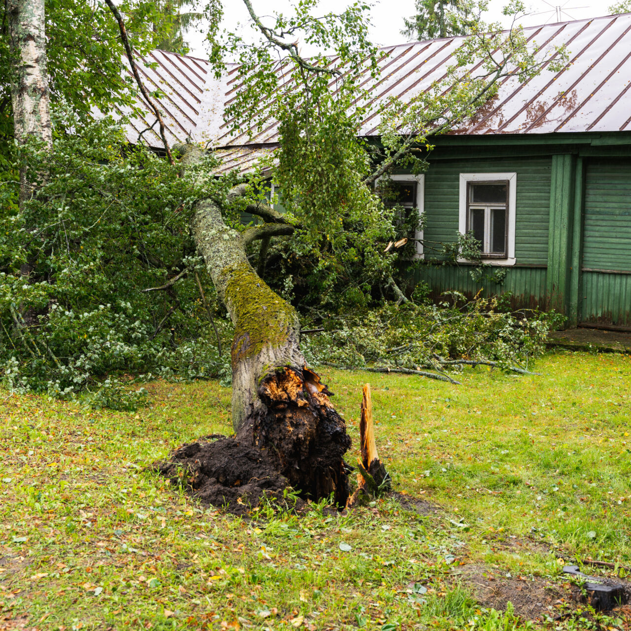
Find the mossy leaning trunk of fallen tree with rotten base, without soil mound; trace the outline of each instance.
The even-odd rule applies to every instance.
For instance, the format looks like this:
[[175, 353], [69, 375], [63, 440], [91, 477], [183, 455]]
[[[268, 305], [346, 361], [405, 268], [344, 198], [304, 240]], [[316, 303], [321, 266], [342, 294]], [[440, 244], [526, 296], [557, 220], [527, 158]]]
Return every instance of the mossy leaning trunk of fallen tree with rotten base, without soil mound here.
[[[180, 146], [184, 165], [201, 149]], [[235, 193], [236, 194], [236, 193]], [[307, 369], [292, 305], [252, 268], [242, 234], [225, 225], [221, 208], [196, 205], [192, 236], [235, 325], [232, 342], [232, 424], [240, 444], [273, 452], [278, 470], [306, 497], [348, 498], [343, 459], [350, 437], [326, 386]]]

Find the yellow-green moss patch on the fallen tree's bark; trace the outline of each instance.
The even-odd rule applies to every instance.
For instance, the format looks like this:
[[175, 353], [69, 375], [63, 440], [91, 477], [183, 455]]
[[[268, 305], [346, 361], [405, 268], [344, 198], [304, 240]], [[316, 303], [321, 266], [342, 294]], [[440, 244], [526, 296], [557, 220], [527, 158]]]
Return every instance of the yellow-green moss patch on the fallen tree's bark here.
[[233, 365], [258, 355], [266, 345], [282, 346], [297, 331], [295, 309], [274, 293], [249, 264], [228, 266], [221, 276], [226, 279], [226, 304], [235, 315]]

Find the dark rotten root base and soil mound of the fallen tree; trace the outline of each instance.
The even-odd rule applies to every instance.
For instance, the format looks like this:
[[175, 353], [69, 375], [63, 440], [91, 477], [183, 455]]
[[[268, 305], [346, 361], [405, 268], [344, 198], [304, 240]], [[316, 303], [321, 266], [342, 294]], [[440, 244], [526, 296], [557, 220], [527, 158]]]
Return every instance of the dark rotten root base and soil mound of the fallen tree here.
[[283, 367], [261, 380], [258, 395], [263, 411], [247, 418], [234, 437], [184, 445], [156, 469], [202, 502], [237, 514], [285, 487], [304, 500], [332, 497], [343, 508], [351, 440], [331, 392], [314, 372]]

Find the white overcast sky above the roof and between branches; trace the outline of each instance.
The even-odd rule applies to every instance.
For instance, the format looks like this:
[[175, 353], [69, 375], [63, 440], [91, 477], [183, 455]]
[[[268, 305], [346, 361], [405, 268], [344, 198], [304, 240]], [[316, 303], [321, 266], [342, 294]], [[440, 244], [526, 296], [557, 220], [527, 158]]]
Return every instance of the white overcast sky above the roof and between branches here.
[[[557, 11], [555, 5], [562, 5], [561, 19], [579, 20], [581, 18], [608, 15], [608, 7], [614, 0], [526, 0], [531, 15], [522, 19], [522, 24], [535, 26], [557, 21]], [[295, 0], [252, 0], [254, 9], [259, 15], [271, 15], [274, 11], [288, 14], [292, 11], [292, 4]], [[565, 3], [565, 4], [563, 4]], [[321, 0], [320, 8], [322, 13], [329, 11], [339, 12], [341, 7], [346, 6], [346, 0]], [[488, 21], [502, 21], [502, 7], [505, 0], [490, 0], [490, 11], [487, 16]], [[386, 46], [400, 44], [406, 41], [401, 35], [403, 28], [403, 18], [413, 15], [415, 7], [414, 0], [376, 0], [372, 9], [371, 35], [375, 44]], [[247, 40], [252, 40], [252, 30], [248, 25], [248, 15], [242, 0], [225, 0], [223, 3], [224, 18], [222, 26], [227, 30], [238, 32]], [[539, 14], [539, 15], [536, 15]], [[239, 26], [240, 23], [240, 26]], [[269, 23], [269, 22], [268, 22]], [[199, 33], [189, 33], [189, 44], [191, 52], [189, 54], [196, 57], [207, 57], [203, 36]], [[309, 54], [309, 50], [301, 50], [302, 54]]]

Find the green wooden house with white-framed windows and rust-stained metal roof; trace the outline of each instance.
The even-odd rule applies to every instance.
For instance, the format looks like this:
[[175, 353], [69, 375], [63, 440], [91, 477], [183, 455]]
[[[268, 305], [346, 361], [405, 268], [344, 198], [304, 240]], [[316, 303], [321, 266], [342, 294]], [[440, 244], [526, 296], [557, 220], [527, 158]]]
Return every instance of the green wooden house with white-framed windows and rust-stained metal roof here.
[[[425, 214], [417, 256], [435, 256], [432, 243], [473, 230], [485, 261], [506, 268], [505, 280], [476, 283], [467, 261], [423, 266], [420, 278], [435, 292], [511, 292], [516, 304], [560, 310], [570, 327], [631, 329], [631, 14], [525, 32], [543, 49], [567, 46], [563, 71], [504, 81], [475, 120], [436, 138], [424, 175], [394, 177]], [[444, 73], [459, 42], [383, 49], [377, 100], [404, 100], [425, 89]], [[157, 62], [146, 76], [165, 93], [173, 141], [210, 141], [223, 170], [247, 169], [278, 146], [274, 123], [260, 133], [225, 133], [221, 103], [238, 88], [232, 71], [216, 80], [208, 62], [161, 51], [146, 61]], [[130, 138], [151, 122], [132, 121]], [[362, 134], [378, 141], [378, 123], [378, 114], [369, 115]], [[153, 142], [160, 146], [157, 136]]]

